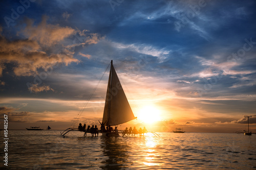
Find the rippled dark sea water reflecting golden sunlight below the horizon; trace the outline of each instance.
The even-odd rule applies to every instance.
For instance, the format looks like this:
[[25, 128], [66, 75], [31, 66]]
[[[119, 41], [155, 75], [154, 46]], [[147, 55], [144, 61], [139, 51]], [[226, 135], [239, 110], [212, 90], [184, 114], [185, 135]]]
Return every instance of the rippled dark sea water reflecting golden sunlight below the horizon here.
[[[1, 132], [2, 139], [3, 131]], [[256, 135], [158, 133], [160, 137], [83, 137], [9, 130], [8, 169], [255, 169]], [[5, 145], [1, 143], [1, 150]], [[1, 152], [2, 159], [4, 152]]]

